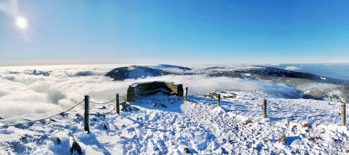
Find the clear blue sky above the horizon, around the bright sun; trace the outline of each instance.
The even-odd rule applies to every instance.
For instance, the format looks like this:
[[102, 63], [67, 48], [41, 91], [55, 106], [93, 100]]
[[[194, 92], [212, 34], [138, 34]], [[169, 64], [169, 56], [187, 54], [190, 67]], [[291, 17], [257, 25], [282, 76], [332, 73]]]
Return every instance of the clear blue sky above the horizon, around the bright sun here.
[[348, 8], [349, 1], [18, 1], [29, 27], [0, 12], [0, 65], [348, 63]]

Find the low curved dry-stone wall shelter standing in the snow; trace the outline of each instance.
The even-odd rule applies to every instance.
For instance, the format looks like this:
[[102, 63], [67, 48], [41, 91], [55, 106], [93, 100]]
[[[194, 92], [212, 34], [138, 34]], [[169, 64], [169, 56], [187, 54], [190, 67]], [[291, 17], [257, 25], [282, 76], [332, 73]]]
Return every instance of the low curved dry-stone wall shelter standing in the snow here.
[[167, 81], [134, 83], [128, 86], [126, 101], [135, 102], [139, 96], [147, 96], [158, 92], [168, 95], [183, 96], [183, 85]]

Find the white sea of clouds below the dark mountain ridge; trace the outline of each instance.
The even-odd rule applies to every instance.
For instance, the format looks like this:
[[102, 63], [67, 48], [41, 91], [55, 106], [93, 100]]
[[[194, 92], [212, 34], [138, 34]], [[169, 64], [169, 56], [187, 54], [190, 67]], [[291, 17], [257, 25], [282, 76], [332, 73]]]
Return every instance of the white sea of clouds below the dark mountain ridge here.
[[[113, 81], [104, 76], [116, 67], [128, 65], [61, 65], [0, 67], [0, 117], [63, 111], [89, 95], [91, 101], [105, 102], [126, 94], [129, 85], [146, 81], [182, 83], [193, 92], [214, 90], [263, 91], [277, 97], [297, 98], [299, 93], [282, 84], [247, 81], [206, 75], [165, 75], [145, 79]], [[195, 95], [189, 93], [189, 95]], [[82, 108], [83, 104], [81, 104]]]

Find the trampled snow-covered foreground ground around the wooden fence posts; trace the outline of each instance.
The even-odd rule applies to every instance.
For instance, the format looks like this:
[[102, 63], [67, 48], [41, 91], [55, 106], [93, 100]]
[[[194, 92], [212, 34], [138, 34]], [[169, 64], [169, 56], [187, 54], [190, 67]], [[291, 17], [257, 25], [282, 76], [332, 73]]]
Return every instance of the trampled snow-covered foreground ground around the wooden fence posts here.
[[[339, 125], [339, 102], [285, 99], [258, 91], [228, 93], [237, 96], [222, 99], [221, 108], [216, 99], [189, 96], [190, 101], [184, 102], [182, 97], [163, 94], [141, 97], [131, 103], [139, 110], [120, 115], [115, 110], [97, 115], [113, 110], [115, 103], [106, 109], [92, 104], [89, 134], [84, 132], [79, 107], [52, 120], [0, 127], [0, 148], [68, 128], [0, 154], [70, 154], [73, 139], [84, 154], [345, 154], [349, 149], [348, 128]], [[263, 99], [268, 100], [267, 119], [261, 118]], [[0, 120], [0, 126], [57, 113], [12, 117]], [[252, 122], [245, 124], [249, 119]], [[287, 143], [278, 142], [282, 134]]]

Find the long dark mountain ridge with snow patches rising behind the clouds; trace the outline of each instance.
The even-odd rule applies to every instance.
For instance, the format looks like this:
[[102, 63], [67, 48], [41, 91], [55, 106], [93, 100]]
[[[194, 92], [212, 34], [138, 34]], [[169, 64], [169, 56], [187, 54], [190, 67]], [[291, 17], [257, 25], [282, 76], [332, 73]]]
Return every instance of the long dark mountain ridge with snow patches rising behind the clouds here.
[[349, 101], [349, 81], [311, 73], [263, 66], [215, 66], [195, 70], [173, 65], [129, 66], [116, 68], [106, 74], [114, 80], [138, 79], [163, 75], [205, 75], [234, 77], [245, 80], [282, 83], [295, 88], [304, 98]]

